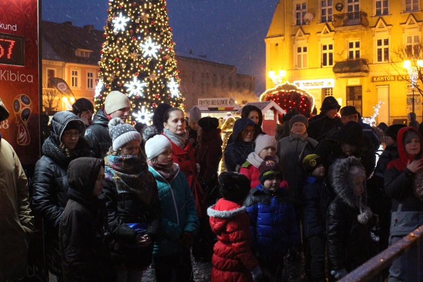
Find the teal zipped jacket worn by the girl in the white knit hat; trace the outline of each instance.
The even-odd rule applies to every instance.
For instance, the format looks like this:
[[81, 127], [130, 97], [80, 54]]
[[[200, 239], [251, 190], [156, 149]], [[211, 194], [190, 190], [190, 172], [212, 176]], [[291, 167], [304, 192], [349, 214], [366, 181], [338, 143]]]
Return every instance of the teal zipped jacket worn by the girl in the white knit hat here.
[[166, 256], [181, 252], [179, 236], [182, 232], [195, 234], [200, 224], [194, 196], [187, 178], [179, 171], [179, 166], [176, 163], [173, 165], [178, 172], [170, 183], [151, 166], [148, 166], [148, 170], [153, 174], [157, 183], [162, 214], [153, 256]]

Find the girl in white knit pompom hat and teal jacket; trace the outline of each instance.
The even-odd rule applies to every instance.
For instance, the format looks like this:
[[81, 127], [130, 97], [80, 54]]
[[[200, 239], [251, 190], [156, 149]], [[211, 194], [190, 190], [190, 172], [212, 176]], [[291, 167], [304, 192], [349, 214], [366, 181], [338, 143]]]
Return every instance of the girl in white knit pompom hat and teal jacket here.
[[200, 224], [193, 193], [179, 165], [173, 162], [171, 142], [152, 126], [143, 130], [142, 137], [162, 214], [153, 250], [156, 281], [171, 281], [173, 273], [177, 281], [192, 281], [190, 248]]

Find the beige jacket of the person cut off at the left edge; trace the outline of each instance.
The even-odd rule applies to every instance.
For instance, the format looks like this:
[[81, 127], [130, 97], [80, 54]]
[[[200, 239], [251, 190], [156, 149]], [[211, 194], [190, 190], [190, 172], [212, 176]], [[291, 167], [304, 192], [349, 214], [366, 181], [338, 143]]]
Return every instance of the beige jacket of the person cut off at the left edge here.
[[[0, 120], [1, 105], [0, 100]], [[15, 281], [26, 274], [34, 226], [28, 202], [28, 181], [15, 151], [1, 139], [1, 134], [0, 214], [0, 281]]]

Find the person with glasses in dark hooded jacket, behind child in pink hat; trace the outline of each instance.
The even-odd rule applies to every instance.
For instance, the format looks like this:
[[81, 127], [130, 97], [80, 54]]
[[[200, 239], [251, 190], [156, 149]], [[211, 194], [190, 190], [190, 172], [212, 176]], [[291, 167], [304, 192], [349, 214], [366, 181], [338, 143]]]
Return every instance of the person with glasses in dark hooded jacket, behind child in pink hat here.
[[248, 118], [240, 118], [233, 124], [232, 140], [223, 153], [227, 171], [238, 172], [248, 155], [254, 152], [256, 124]]

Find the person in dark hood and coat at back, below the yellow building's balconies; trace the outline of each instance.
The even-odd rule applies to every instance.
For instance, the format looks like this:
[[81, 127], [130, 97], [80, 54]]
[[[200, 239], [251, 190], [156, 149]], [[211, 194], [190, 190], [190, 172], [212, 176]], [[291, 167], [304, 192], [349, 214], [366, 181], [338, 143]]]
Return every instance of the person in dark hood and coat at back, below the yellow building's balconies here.
[[337, 113], [341, 105], [333, 96], [327, 96], [320, 108], [320, 114], [310, 118], [307, 128], [308, 137], [320, 142], [329, 136], [333, 131], [342, 126], [341, 119]]

